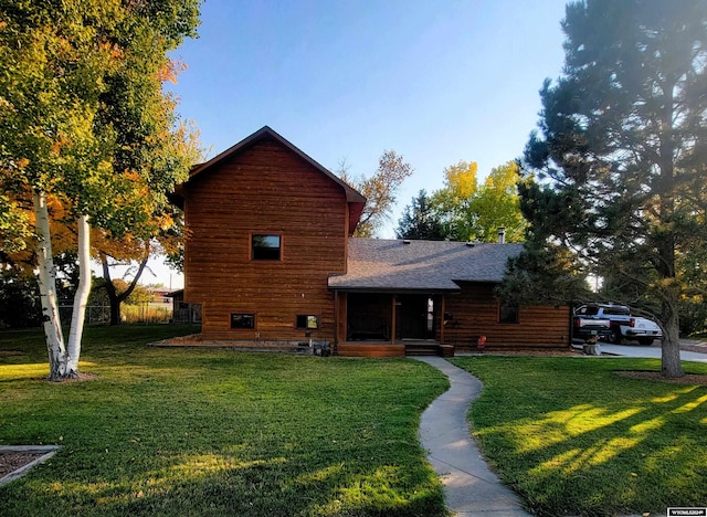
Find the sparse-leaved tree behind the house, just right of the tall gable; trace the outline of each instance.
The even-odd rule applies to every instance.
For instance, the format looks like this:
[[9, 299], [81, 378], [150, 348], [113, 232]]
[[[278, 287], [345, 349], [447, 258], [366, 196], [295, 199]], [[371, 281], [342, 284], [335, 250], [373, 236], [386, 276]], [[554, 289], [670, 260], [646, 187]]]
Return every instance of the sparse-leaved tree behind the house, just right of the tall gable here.
[[366, 207], [356, 229], [356, 236], [373, 236], [390, 218], [398, 189], [412, 176], [413, 168], [394, 150], [384, 151], [378, 160], [378, 169], [371, 177], [350, 178], [341, 166], [339, 177], [366, 196]]

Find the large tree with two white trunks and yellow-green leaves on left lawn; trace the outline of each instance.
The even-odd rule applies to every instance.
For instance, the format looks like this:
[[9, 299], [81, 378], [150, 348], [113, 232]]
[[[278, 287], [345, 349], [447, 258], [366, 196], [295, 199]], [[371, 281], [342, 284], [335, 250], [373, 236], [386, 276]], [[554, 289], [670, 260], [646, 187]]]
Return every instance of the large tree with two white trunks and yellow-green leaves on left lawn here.
[[[193, 33], [199, 3], [0, 2], [0, 168], [13, 192], [31, 193], [53, 380], [77, 374], [89, 223], [120, 234], [149, 220], [187, 170], [161, 81], [166, 52]], [[81, 278], [68, 346], [56, 309], [51, 197], [77, 225]]]

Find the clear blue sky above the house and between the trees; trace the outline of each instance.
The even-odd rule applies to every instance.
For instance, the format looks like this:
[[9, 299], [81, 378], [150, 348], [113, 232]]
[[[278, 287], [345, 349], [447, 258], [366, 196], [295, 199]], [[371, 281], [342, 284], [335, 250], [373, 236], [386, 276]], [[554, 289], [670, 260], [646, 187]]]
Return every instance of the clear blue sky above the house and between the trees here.
[[441, 188], [446, 166], [476, 161], [484, 177], [520, 156], [542, 81], [561, 72], [564, 4], [207, 0], [200, 36], [172, 55], [187, 68], [169, 89], [208, 157], [265, 125], [354, 176], [394, 149], [415, 172], [381, 234], [393, 238], [401, 211], [420, 189]]

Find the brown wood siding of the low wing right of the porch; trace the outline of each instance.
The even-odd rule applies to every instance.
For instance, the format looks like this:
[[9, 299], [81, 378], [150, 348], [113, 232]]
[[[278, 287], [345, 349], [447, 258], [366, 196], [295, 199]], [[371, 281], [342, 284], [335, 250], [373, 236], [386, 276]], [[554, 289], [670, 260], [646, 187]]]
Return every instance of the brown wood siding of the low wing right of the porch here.
[[475, 351], [478, 336], [486, 336], [488, 351], [570, 346], [569, 307], [520, 306], [517, 324], [502, 324], [494, 284], [464, 284], [462, 293], [446, 295], [444, 310], [452, 316], [444, 342], [457, 352]]

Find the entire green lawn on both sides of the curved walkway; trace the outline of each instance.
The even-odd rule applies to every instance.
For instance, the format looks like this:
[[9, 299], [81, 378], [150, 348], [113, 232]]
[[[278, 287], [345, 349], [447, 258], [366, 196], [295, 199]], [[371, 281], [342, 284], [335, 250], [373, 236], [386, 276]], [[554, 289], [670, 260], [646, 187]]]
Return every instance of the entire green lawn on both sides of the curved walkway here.
[[[0, 488], [0, 514], [444, 515], [416, 435], [439, 371], [146, 346], [192, 330], [88, 328], [82, 371], [97, 377], [62, 384], [43, 380], [39, 331], [0, 333], [0, 444], [63, 445]], [[474, 434], [536, 514], [707, 504], [707, 388], [614, 373], [654, 360], [453, 361], [483, 380]]]

